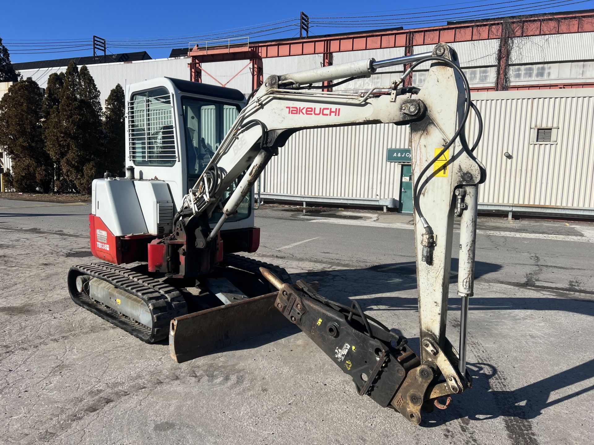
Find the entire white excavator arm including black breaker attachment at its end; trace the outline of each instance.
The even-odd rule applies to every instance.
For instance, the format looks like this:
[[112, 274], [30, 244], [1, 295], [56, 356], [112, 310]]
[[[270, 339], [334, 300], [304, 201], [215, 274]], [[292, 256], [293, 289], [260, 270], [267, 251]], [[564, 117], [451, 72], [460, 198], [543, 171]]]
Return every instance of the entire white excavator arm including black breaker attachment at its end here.
[[[411, 63], [391, 85], [366, 94], [315, 90], [318, 82], [374, 75], [378, 68]], [[421, 63], [431, 63], [424, 86], [402, 81]], [[466, 141], [464, 128], [472, 103], [456, 53], [440, 43], [432, 53], [376, 62], [329, 66], [267, 78], [184, 198], [174, 233], [195, 239], [198, 249], [217, 241], [217, 233], [254, 185], [271, 157], [296, 131], [346, 125], [410, 125], [415, 248], [421, 351], [352, 306], [326, 300], [311, 285], [283, 282], [262, 274], [277, 288], [274, 305], [302, 329], [355, 382], [359, 395], [391, 406], [413, 424], [421, 408], [443, 408], [451, 394], [470, 387], [466, 371], [466, 315], [473, 292], [478, 185], [485, 170]], [[475, 112], [476, 109], [475, 109]], [[478, 113], [478, 112], [477, 112]], [[480, 137], [480, 136], [479, 136]], [[239, 180], [231, 195], [226, 190]], [[222, 210], [211, 228], [208, 217]], [[454, 215], [461, 216], [459, 284], [462, 298], [459, 351], [445, 336]], [[191, 232], [191, 233], [190, 233]], [[175, 321], [174, 321], [175, 323]], [[438, 399], [447, 396], [442, 405]]]

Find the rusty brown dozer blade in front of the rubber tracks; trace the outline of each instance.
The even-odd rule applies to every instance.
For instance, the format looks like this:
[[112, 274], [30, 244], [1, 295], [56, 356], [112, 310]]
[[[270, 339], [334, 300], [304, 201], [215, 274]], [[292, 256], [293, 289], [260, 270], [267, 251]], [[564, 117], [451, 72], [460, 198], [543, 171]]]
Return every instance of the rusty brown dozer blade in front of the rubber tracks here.
[[213, 307], [171, 320], [169, 352], [177, 363], [286, 328], [292, 323], [274, 307], [277, 292]]

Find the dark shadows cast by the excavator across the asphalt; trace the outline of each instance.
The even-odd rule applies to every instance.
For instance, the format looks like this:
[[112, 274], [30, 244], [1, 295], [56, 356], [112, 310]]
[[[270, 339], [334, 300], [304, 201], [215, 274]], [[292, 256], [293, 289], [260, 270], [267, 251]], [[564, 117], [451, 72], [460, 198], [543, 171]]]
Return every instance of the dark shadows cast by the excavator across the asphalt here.
[[[452, 259], [451, 268], [457, 270], [457, 259]], [[498, 271], [500, 265], [477, 262], [476, 278]], [[293, 281], [304, 279], [307, 282], [319, 281], [320, 294], [330, 300], [349, 304], [352, 297], [358, 298], [359, 303], [365, 307], [386, 306], [387, 309], [375, 310], [410, 310], [416, 311], [417, 299], [414, 297], [399, 296], [399, 291], [414, 290], [416, 288], [416, 266], [414, 262], [391, 263], [372, 266], [364, 269], [345, 269], [339, 271], [318, 271], [302, 274], [292, 274]], [[451, 274], [450, 282], [456, 282], [457, 276]], [[377, 296], [377, 294], [388, 294]], [[369, 295], [369, 297], [366, 297]], [[453, 297], [449, 300], [448, 309], [459, 309], [460, 298]], [[472, 297], [470, 310], [559, 310], [594, 316], [594, 304], [590, 300], [574, 300], [571, 298], [548, 296], [538, 297]], [[381, 321], [381, 318], [380, 318]], [[393, 332], [400, 334], [396, 329]], [[270, 342], [286, 338], [298, 333], [296, 326], [267, 333], [233, 347], [224, 349], [249, 349], [266, 345]], [[419, 351], [419, 339], [410, 338], [409, 344], [414, 351]], [[554, 358], [557, 352], [549, 351]], [[456, 396], [450, 407], [445, 411], [435, 409], [432, 413], [425, 413], [422, 425], [437, 427], [456, 419], [469, 422], [481, 421], [503, 417], [505, 428], [510, 437], [520, 440], [521, 443], [530, 443], [533, 437], [530, 419], [538, 417], [549, 406], [564, 402], [594, 389], [590, 385], [568, 395], [555, 397], [554, 392], [563, 390], [584, 380], [594, 377], [594, 360], [562, 371], [554, 376], [546, 377], [534, 383], [527, 384], [519, 389], [504, 390], [507, 380], [498, 372], [493, 364], [469, 363], [470, 374], [473, 376], [473, 387], [460, 396]], [[536, 376], [536, 374], [535, 374]], [[353, 396], [355, 394], [353, 393]]]

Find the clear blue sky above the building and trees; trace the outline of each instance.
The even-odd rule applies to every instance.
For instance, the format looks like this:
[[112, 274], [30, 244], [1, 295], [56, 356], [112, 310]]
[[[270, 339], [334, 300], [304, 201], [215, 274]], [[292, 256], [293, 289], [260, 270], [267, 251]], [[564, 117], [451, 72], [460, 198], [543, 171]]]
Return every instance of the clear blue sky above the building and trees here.
[[[12, 62], [92, 55], [88, 46], [93, 34], [108, 39], [109, 52], [147, 50], [153, 58], [163, 58], [169, 56], [171, 47], [184, 47], [188, 46], [189, 41], [206, 40], [229, 33], [236, 36], [251, 34], [251, 40], [298, 36], [297, 22], [291, 19], [299, 17], [301, 9], [312, 17], [310, 35], [320, 35], [399, 25], [405, 28], [434, 26], [444, 24], [445, 18], [500, 17], [531, 11], [594, 8], [594, 0], [428, 0], [407, 2], [399, 11], [394, 10], [398, 2], [342, 0], [339, 7], [333, 6], [333, 2], [312, 0], [302, 0], [297, 4], [261, 3], [264, 6], [260, 7], [260, 2], [230, 1], [146, 0], [137, 4], [110, 0], [92, 4], [80, 0], [4, 2], [0, 15], [0, 37], [11, 52]], [[364, 15], [367, 17], [357, 17]], [[350, 21], [350, 24], [345, 24], [345, 21]], [[257, 25], [260, 27], [251, 31], [239, 31]], [[260, 36], [254, 35], [257, 31], [260, 31]], [[211, 36], [204, 37], [204, 34]], [[129, 42], [129, 39], [146, 41]], [[62, 40], [72, 42], [60, 42]], [[42, 53], [42, 50], [61, 52]]]

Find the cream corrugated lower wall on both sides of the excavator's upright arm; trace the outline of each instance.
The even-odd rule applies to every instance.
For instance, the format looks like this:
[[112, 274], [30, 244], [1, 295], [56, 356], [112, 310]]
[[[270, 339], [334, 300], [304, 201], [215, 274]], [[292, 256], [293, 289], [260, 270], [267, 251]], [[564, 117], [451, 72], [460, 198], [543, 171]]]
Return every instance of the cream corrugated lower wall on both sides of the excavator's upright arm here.
[[[488, 173], [479, 194], [484, 209], [594, 209], [594, 88], [491, 91], [473, 101], [485, 127], [476, 151]], [[536, 140], [544, 128], [552, 129], [550, 142]], [[388, 124], [299, 132], [268, 164], [264, 196], [356, 204], [396, 198], [406, 205], [411, 197], [402, 182], [410, 171], [387, 162], [386, 151], [408, 147], [408, 138], [406, 127]]]

